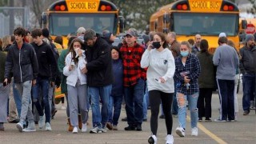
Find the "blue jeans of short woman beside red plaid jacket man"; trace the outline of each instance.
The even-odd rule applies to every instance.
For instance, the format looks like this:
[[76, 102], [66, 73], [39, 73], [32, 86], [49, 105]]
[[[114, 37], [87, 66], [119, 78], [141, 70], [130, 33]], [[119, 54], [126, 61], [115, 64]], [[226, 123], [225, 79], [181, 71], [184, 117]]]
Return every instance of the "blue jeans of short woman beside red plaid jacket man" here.
[[[109, 122], [113, 123], [114, 126], [118, 125], [118, 119], [121, 113], [122, 107], [122, 95], [120, 96], [111, 96], [110, 95], [110, 102], [109, 102]], [[114, 113], [113, 113], [113, 106], [114, 106]]]

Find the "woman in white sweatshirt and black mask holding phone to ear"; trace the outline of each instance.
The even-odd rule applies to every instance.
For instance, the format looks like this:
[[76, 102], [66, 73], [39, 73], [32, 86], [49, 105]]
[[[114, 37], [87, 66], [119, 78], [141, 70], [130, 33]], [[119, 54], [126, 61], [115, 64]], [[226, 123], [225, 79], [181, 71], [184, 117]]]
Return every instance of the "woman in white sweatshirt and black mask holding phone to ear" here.
[[175, 63], [171, 51], [168, 49], [165, 34], [154, 34], [153, 42], [142, 55], [142, 68], [148, 68], [146, 72], [148, 90], [150, 95], [150, 129], [152, 135], [148, 139], [150, 144], [157, 143], [158, 114], [162, 102], [162, 109], [166, 116], [166, 143], [174, 143], [172, 135], [173, 118], [170, 113], [174, 94], [174, 70]]

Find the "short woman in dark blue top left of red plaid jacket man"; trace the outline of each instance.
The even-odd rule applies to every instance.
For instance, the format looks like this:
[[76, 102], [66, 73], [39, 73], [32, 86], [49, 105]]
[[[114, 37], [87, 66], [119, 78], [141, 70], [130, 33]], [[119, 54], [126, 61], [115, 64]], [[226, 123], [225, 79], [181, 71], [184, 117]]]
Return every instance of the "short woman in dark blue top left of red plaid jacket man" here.
[[106, 122], [106, 127], [109, 130], [118, 130], [118, 119], [121, 113], [123, 95], [123, 66], [121, 53], [117, 46], [112, 47], [111, 55], [114, 82], [112, 84], [112, 90], [110, 94], [108, 106], [109, 116], [108, 122]]

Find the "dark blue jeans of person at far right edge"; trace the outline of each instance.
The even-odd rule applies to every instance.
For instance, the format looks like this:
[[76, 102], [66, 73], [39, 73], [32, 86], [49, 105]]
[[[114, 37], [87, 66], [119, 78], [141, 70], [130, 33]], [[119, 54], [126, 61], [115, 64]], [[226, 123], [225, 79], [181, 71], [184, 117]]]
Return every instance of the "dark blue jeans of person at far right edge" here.
[[254, 98], [255, 92], [255, 74], [242, 75], [242, 109], [250, 110], [250, 99]]

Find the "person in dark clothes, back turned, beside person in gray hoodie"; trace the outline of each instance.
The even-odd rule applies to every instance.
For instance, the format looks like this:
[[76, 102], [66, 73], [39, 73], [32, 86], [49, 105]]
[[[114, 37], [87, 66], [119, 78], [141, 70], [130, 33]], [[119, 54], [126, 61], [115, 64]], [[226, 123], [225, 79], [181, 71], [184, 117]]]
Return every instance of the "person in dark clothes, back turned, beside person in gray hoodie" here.
[[201, 51], [197, 54], [201, 66], [198, 78], [198, 121], [202, 122], [202, 117], [205, 117], [206, 122], [211, 122], [211, 98], [215, 87], [213, 54], [208, 51], [209, 45], [206, 39], [202, 39], [200, 48]]

